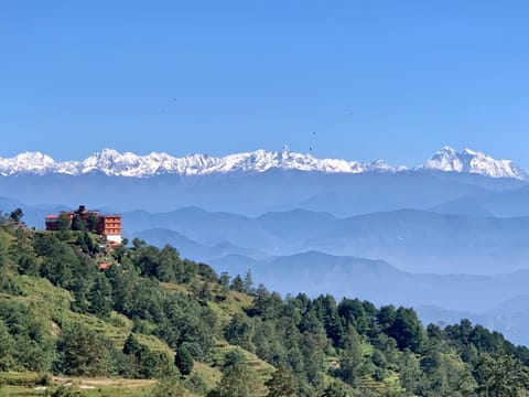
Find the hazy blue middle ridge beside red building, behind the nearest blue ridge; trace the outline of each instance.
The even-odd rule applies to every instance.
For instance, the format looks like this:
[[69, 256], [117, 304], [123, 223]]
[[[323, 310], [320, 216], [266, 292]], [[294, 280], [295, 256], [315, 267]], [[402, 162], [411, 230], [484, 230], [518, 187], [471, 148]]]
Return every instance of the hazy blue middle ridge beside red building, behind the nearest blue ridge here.
[[[181, 243], [177, 232], [203, 246], [229, 243], [268, 256], [321, 251], [334, 256], [381, 259], [401, 270], [494, 275], [527, 268], [529, 217], [481, 217], [399, 210], [335, 217], [294, 210], [257, 217], [184, 207], [169, 213], [123, 212], [123, 228], [150, 244]], [[155, 235], [148, 230], [158, 228]], [[163, 228], [163, 229], [162, 229]], [[182, 247], [187, 247], [187, 242]], [[203, 248], [202, 260], [218, 257]], [[212, 255], [214, 254], [214, 255]], [[244, 254], [248, 256], [247, 254]], [[253, 255], [249, 255], [255, 258]]]

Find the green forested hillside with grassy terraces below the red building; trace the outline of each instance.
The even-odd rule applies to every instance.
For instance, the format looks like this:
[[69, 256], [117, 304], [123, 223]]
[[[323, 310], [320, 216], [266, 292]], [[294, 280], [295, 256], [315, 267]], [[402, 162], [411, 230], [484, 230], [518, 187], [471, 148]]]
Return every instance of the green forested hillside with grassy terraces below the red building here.
[[0, 395], [528, 395], [529, 350], [466, 320], [282, 298], [170, 246], [104, 251], [83, 225], [20, 216], [0, 219]]

